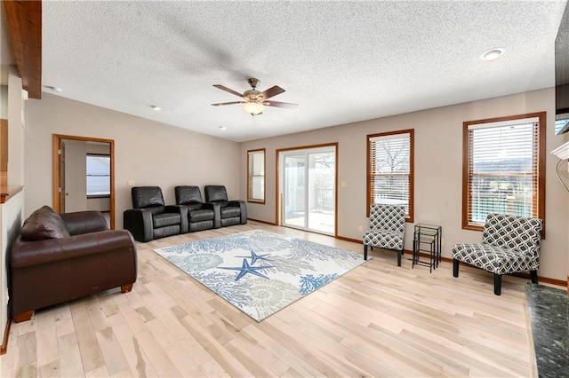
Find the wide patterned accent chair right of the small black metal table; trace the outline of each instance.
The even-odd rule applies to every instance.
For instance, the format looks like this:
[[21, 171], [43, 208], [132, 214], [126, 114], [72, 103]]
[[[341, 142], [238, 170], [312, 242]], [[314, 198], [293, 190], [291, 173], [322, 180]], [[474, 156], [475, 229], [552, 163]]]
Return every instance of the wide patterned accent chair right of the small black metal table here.
[[503, 274], [529, 271], [532, 282], [537, 283], [542, 227], [541, 219], [488, 214], [482, 243], [453, 246], [453, 276], [459, 276], [460, 262], [491, 272], [495, 295], [501, 295]]

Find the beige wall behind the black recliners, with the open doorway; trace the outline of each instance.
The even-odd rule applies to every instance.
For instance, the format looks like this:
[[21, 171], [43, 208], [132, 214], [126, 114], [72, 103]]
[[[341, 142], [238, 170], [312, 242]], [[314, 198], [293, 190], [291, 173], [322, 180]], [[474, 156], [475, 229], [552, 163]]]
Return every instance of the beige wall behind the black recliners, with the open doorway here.
[[226, 185], [230, 197], [240, 196], [235, 142], [49, 93], [26, 106], [26, 216], [52, 205], [52, 134], [115, 141], [116, 228], [132, 207], [127, 180], [162, 187], [169, 204], [175, 185]]

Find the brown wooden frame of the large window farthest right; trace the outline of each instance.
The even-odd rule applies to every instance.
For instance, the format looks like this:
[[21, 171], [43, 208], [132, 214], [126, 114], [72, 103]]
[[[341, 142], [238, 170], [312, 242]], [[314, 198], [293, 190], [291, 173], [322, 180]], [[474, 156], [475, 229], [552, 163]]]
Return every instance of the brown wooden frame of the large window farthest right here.
[[[541, 237], [545, 239], [545, 172], [546, 172], [546, 130], [547, 130], [547, 113], [537, 112], [529, 114], [516, 114], [496, 118], [487, 118], [483, 120], [467, 121], [462, 123], [462, 229], [473, 230], [473, 231], [483, 231], [484, 224], [472, 224], [469, 220], [470, 209], [472, 209], [472, 202], [470, 201], [469, 195], [469, 156], [471, 152], [469, 151], [469, 126], [476, 124], [485, 123], [497, 123], [497, 122], [514, 122], [516, 120], [523, 120], [526, 118], [537, 118], [539, 125], [537, 127], [537, 138], [538, 140], [534, 142], [534, 146], [537, 147], [537, 162], [533, 161], [535, 164], [533, 166], [537, 167], [537, 198], [533, 199], [533, 205], [536, 205], [536, 214], [532, 217], [537, 217], [543, 220], [543, 229], [541, 231]], [[501, 127], [502, 125], [496, 125], [495, 127]], [[536, 203], [534, 203], [536, 201]]]

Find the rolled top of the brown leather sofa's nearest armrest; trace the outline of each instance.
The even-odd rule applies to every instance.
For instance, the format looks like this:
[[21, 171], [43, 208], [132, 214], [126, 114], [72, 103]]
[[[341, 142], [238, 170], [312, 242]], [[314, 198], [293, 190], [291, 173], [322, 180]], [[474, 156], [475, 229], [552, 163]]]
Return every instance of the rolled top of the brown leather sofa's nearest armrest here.
[[37, 241], [18, 238], [12, 245], [10, 265], [12, 269], [21, 269], [125, 248], [136, 253], [132, 235], [126, 230], [91, 232]]

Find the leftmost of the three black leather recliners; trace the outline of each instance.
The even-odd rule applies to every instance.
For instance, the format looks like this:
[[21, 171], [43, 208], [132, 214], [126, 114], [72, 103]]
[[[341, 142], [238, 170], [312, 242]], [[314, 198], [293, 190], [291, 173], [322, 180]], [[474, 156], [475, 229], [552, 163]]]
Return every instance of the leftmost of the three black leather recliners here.
[[188, 229], [188, 210], [164, 205], [162, 189], [158, 186], [133, 186], [132, 208], [124, 210], [123, 227], [135, 240], [149, 241], [177, 235]]

